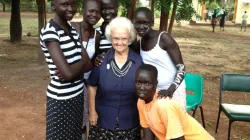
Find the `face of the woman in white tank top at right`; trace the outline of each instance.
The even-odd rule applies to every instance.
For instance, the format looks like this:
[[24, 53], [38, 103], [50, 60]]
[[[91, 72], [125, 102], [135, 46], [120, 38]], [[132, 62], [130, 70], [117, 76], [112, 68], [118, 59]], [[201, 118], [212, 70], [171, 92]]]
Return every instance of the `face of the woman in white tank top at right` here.
[[152, 17], [144, 11], [138, 11], [134, 17], [134, 26], [140, 37], [145, 36], [152, 26]]

